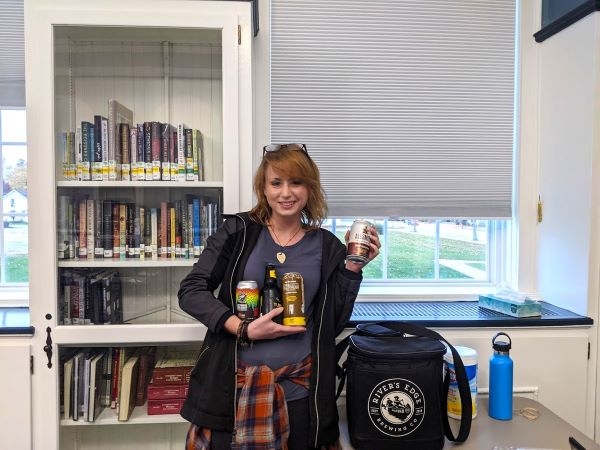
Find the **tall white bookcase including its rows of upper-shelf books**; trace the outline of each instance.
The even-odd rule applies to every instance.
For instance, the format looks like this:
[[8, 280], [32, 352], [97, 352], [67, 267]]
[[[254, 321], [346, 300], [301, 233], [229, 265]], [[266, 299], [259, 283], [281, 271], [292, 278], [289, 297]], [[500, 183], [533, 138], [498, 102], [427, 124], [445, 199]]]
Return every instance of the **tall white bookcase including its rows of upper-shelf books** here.
[[70, 419], [61, 373], [77, 350], [203, 339], [177, 290], [252, 203], [251, 6], [25, 2], [34, 448], [183, 445], [145, 406]]

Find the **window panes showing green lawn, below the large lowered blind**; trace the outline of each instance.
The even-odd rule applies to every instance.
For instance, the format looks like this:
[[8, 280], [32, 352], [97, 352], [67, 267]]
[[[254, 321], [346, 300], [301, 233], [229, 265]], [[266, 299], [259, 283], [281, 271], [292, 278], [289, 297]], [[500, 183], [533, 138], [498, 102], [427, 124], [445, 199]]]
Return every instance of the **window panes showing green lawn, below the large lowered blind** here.
[[[382, 237], [380, 256], [364, 270], [367, 284], [437, 283], [446, 286], [501, 280], [491, 258], [505, 235], [507, 222], [468, 219], [399, 219], [373, 221]], [[351, 219], [334, 218], [325, 224], [340, 240]]]

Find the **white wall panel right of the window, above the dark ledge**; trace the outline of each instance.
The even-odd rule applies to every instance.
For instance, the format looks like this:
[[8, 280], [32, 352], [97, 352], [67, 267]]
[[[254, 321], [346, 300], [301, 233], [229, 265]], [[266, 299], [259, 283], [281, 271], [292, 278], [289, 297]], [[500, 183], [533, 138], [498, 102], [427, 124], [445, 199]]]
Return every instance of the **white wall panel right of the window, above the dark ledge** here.
[[590, 281], [597, 22], [597, 14], [588, 15], [539, 44], [538, 285], [544, 298], [579, 314], [588, 312]]

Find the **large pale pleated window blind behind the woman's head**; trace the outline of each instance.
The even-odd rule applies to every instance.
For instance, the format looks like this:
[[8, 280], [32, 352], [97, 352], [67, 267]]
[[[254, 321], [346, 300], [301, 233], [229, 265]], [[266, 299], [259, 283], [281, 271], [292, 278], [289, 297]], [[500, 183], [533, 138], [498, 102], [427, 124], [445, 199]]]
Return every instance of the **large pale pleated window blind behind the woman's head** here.
[[511, 217], [515, 0], [272, 0], [271, 142], [331, 216]]

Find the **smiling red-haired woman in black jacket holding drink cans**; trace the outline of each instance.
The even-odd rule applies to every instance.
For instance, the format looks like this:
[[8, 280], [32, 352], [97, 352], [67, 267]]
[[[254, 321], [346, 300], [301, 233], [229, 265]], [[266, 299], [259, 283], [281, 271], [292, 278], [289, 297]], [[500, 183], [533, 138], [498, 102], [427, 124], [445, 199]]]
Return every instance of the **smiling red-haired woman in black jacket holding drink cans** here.
[[[254, 191], [256, 206], [226, 216], [178, 293], [181, 308], [208, 328], [181, 410], [192, 424], [186, 448], [333, 447], [335, 337], [352, 313], [363, 266], [345, 261], [345, 246], [320, 228], [327, 205], [306, 146], [266, 146]], [[370, 237], [369, 261], [380, 247], [374, 228]], [[251, 322], [237, 317], [237, 283], [256, 280], [260, 288], [268, 263], [279, 281], [302, 275], [306, 327], [276, 323], [283, 308]]]

